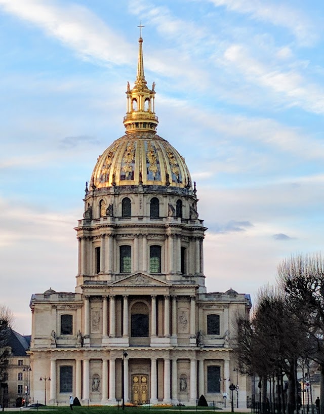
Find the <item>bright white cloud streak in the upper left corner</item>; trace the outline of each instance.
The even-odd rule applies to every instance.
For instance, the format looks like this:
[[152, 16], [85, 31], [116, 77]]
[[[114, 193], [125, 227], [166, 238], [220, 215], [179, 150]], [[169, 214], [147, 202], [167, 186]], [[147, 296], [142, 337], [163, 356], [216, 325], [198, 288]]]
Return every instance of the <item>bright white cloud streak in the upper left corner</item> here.
[[33, 23], [83, 57], [126, 64], [135, 50], [96, 15], [78, 5], [59, 6], [41, 0], [0, 0], [0, 7]]

